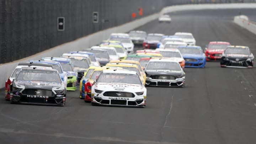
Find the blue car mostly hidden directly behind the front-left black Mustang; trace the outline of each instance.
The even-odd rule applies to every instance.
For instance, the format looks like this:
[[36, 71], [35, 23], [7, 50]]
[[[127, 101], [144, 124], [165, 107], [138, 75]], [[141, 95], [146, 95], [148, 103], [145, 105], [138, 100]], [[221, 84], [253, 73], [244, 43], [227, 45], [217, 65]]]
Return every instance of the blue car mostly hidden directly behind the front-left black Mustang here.
[[53, 69], [58, 70], [60, 78], [62, 79], [62, 81], [64, 82], [65, 86], [67, 85], [67, 75], [66, 73], [63, 71], [62, 66], [60, 65], [59, 62], [50, 62], [50, 61], [44, 61], [44, 60], [29, 60], [28, 62], [32, 62], [32, 63], [45, 63], [45, 64], [50, 64], [53, 66]]

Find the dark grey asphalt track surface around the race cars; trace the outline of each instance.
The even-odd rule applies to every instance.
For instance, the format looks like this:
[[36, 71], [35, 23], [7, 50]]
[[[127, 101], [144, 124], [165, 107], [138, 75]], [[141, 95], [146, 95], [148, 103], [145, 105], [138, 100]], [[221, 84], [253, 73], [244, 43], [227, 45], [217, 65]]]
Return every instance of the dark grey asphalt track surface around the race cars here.
[[[238, 12], [176, 12], [170, 24], [152, 21], [137, 30], [192, 32], [199, 46], [228, 41], [256, 54], [256, 36], [232, 22]], [[185, 71], [185, 88], [148, 87], [145, 108], [91, 106], [79, 99], [79, 90], [68, 92], [64, 107], [17, 105], [1, 98], [0, 143], [255, 144], [256, 68], [207, 62], [206, 68]]]

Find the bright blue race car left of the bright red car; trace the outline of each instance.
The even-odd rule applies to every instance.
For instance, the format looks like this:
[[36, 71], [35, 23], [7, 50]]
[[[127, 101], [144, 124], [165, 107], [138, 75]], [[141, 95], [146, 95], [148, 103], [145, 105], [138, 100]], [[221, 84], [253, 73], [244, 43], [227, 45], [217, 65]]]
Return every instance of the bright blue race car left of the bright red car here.
[[182, 57], [185, 60], [185, 68], [204, 68], [206, 57], [199, 46], [179, 46]]

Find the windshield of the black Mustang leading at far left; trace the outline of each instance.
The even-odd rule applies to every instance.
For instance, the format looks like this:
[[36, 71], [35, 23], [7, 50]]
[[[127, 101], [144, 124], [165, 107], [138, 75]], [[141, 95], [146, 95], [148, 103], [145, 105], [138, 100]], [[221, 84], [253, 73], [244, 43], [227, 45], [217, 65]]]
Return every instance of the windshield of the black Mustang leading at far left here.
[[56, 72], [36, 70], [20, 71], [16, 80], [62, 82], [59, 74]]

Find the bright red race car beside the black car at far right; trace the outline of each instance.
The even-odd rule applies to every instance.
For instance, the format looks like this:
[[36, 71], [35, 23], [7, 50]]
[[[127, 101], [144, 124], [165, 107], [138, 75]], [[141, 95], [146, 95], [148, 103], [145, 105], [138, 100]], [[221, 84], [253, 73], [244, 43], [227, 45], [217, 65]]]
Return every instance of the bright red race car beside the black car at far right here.
[[230, 46], [229, 42], [209, 42], [205, 48], [206, 61], [220, 60], [222, 53], [228, 46]]

